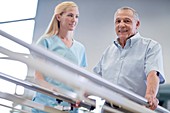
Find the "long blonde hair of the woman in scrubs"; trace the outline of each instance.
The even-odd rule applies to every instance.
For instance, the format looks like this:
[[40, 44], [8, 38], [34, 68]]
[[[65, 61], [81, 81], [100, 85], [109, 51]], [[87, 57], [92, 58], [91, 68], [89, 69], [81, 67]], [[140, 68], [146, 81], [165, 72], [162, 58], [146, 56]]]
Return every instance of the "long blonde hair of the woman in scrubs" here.
[[43, 35], [44, 37], [50, 37], [50, 36], [58, 34], [58, 31], [60, 28], [59, 28], [59, 21], [56, 19], [56, 14], [62, 14], [69, 7], [77, 7], [78, 8], [76, 3], [72, 2], [72, 1], [62, 2], [55, 7], [51, 22], [50, 22], [46, 32]]

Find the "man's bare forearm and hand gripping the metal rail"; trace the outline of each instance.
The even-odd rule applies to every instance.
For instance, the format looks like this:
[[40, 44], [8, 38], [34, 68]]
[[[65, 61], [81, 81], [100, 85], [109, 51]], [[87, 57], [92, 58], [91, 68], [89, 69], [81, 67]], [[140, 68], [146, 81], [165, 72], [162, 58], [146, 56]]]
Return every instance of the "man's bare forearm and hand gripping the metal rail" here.
[[156, 98], [159, 89], [159, 77], [156, 71], [149, 72], [147, 76], [147, 88], [145, 98], [149, 102], [149, 108], [155, 110], [159, 104], [159, 100]]

